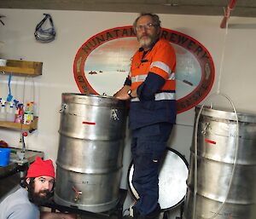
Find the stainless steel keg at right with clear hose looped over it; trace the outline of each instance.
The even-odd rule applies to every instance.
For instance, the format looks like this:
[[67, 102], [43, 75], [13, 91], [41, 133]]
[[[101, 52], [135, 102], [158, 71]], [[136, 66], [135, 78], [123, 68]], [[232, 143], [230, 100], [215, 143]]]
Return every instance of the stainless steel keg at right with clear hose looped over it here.
[[[199, 111], [196, 107], [196, 117]], [[238, 113], [237, 116], [239, 144], [236, 153], [235, 112], [210, 108], [201, 112], [197, 132], [196, 219], [256, 218], [256, 115]], [[230, 182], [234, 160], [235, 170]], [[193, 218], [194, 164], [193, 141], [183, 214], [186, 219]]]

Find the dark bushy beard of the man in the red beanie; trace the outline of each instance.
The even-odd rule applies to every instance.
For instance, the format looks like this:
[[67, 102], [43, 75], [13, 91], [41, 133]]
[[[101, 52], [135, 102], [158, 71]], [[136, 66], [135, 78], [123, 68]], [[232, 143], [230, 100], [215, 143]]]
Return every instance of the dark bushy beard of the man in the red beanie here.
[[34, 205], [44, 205], [47, 203], [52, 197], [53, 193], [50, 192], [48, 189], [40, 190], [38, 193], [35, 193], [35, 186], [34, 182], [31, 182], [27, 185], [28, 188], [28, 199], [30, 202], [32, 202]]

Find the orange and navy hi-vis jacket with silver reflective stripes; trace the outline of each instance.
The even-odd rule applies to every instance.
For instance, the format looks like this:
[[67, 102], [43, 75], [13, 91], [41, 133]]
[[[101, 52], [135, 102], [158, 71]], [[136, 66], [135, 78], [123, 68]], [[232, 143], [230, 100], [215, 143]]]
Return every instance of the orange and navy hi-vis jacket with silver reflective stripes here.
[[175, 123], [176, 55], [172, 45], [159, 39], [152, 49], [139, 49], [132, 57], [131, 71], [125, 80], [137, 89], [131, 99], [130, 128], [135, 130], [149, 124]]

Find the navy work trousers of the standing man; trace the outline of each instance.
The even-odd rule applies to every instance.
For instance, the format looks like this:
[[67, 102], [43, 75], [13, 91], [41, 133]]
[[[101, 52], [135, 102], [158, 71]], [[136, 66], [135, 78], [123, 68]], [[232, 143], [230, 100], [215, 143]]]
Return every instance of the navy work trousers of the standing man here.
[[173, 124], [160, 123], [132, 130], [131, 154], [134, 164], [132, 185], [140, 197], [134, 207], [143, 216], [159, 207], [160, 160], [166, 151], [166, 142], [172, 132], [172, 126]]

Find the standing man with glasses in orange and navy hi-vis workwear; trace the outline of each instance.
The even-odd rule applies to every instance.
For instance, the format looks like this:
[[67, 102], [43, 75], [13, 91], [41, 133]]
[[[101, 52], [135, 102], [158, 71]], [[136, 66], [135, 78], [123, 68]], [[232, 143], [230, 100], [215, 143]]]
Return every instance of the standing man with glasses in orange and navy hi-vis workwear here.
[[133, 26], [141, 48], [132, 57], [124, 87], [114, 96], [131, 101], [132, 184], [140, 197], [133, 206], [134, 216], [153, 219], [160, 213], [160, 159], [176, 120], [176, 55], [172, 45], [160, 38], [157, 14], [141, 14]]

